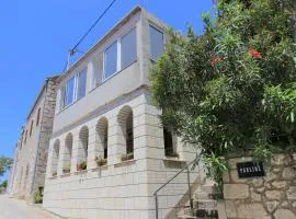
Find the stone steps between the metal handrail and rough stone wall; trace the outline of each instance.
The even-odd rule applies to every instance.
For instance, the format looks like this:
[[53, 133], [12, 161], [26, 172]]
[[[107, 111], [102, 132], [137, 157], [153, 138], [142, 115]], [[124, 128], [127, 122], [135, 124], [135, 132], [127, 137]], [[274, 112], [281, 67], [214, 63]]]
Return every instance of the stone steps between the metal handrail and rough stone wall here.
[[193, 209], [190, 204], [177, 215], [178, 219], [218, 219], [217, 201], [214, 197], [214, 185], [210, 181], [200, 186], [193, 194]]

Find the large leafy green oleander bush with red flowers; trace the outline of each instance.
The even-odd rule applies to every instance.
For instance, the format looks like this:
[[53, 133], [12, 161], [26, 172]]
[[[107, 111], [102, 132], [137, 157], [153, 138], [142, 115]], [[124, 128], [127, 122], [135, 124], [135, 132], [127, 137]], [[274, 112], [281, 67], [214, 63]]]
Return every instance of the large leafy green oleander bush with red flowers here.
[[296, 149], [295, 0], [217, 1], [204, 33], [169, 30], [170, 43], [152, 69], [162, 123], [200, 146], [221, 183], [224, 158]]

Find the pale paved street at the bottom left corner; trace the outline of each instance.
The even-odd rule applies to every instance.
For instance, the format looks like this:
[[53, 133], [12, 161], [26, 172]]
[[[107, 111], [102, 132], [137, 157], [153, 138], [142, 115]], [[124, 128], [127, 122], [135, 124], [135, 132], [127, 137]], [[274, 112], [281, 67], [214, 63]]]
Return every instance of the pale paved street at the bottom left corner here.
[[29, 206], [24, 200], [0, 195], [0, 219], [52, 219], [50, 214]]

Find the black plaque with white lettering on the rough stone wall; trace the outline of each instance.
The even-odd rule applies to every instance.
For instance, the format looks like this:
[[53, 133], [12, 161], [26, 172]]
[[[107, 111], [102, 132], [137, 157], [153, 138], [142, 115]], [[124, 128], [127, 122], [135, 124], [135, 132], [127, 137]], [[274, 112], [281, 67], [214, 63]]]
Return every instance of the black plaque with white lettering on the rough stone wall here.
[[264, 176], [262, 162], [241, 162], [237, 163], [238, 176], [240, 178]]

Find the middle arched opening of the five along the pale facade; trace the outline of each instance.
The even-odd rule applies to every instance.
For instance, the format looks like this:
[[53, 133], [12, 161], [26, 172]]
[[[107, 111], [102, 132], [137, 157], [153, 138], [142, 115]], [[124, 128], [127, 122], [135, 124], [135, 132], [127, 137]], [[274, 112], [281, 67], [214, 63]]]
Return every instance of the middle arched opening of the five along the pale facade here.
[[77, 170], [87, 170], [89, 149], [89, 128], [83, 126], [79, 132]]

